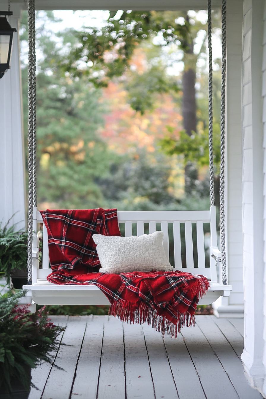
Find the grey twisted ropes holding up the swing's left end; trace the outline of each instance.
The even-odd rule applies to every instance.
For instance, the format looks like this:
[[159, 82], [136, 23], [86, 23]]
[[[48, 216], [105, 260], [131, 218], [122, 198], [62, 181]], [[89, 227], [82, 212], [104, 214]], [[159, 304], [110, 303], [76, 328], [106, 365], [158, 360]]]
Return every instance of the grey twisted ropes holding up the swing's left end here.
[[28, 1], [29, 23], [29, 221], [28, 221], [28, 284], [32, 284], [32, 230], [33, 230], [33, 206], [36, 204], [36, 129], [35, 129], [35, 0]]

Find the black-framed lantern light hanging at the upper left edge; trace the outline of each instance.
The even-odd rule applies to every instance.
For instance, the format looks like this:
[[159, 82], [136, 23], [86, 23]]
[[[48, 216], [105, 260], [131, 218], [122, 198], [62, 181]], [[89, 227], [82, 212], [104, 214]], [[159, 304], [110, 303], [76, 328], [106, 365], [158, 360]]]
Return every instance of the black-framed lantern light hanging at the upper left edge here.
[[13, 34], [16, 28], [11, 28], [6, 16], [12, 15], [12, 11], [0, 11], [0, 79], [10, 68], [10, 59], [13, 45]]

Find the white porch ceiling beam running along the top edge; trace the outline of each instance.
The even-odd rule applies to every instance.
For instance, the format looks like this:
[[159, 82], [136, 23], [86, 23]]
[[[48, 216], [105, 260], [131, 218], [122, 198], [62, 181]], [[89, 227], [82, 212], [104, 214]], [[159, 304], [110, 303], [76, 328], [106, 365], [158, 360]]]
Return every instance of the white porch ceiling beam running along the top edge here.
[[[7, 1], [0, 1], [0, 4]], [[25, 0], [11, 4], [27, 8]], [[219, 8], [220, 0], [212, 7]], [[206, 10], [207, 0], [35, 0], [36, 10]]]

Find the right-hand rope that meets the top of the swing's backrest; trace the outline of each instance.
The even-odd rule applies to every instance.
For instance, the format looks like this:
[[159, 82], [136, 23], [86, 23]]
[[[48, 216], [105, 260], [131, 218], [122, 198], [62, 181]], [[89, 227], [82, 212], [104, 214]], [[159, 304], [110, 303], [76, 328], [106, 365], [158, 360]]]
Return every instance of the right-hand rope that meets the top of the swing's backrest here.
[[213, 168], [213, 53], [211, 47], [211, 0], [208, 0], [208, 41], [209, 41], [209, 158], [210, 158], [210, 198], [214, 205]]

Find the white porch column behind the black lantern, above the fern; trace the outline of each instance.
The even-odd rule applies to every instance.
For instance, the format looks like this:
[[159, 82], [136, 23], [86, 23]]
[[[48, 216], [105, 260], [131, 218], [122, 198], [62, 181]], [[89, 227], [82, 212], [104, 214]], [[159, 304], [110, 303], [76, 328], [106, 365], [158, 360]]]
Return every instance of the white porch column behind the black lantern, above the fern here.
[[[23, 6], [23, 4], [22, 4]], [[7, 10], [7, 2], [0, 1]], [[20, 6], [11, 4], [13, 16], [9, 17], [14, 33], [11, 68], [0, 79], [0, 221], [26, 224], [25, 157], [22, 124], [22, 93], [19, 58]]]

